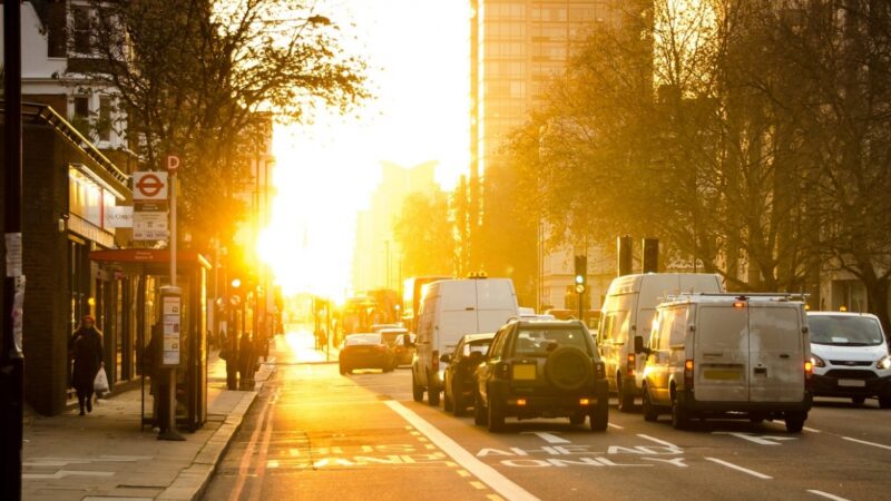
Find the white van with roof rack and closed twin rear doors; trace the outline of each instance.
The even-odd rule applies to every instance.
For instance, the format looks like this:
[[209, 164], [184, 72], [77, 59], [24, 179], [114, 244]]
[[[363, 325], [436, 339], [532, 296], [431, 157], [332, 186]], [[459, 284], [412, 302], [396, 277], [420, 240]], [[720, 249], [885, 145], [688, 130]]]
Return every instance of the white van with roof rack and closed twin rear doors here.
[[646, 357], [644, 419], [670, 412], [693, 418], [783, 419], [797, 433], [811, 410], [813, 384], [807, 318], [801, 296], [683, 294], [663, 303]]

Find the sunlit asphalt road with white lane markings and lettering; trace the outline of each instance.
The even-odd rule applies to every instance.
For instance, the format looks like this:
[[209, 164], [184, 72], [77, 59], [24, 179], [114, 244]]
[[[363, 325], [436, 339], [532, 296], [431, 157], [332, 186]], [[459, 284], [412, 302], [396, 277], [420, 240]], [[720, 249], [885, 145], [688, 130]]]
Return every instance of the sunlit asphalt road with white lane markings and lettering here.
[[[805, 430], [696, 423], [610, 407], [605, 433], [508, 420], [488, 433], [411, 399], [411, 372], [301, 363], [309, 333], [277, 343], [275, 377], [205, 499], [875, 499], [891, 489], [889, 411], [819, 400]], [[324, 356], [316, 353], [317, 362]], [[332, 358], [334, 360], [334, 358]]]

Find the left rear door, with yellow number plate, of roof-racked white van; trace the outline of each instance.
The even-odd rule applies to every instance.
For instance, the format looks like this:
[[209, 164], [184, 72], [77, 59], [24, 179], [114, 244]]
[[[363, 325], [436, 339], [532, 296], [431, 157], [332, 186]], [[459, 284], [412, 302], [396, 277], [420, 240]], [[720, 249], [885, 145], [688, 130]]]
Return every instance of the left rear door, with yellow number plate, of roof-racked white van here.
[[697, 401], [748, 402], [748, 313], [732, 305], [703, 305], [693, 348]]

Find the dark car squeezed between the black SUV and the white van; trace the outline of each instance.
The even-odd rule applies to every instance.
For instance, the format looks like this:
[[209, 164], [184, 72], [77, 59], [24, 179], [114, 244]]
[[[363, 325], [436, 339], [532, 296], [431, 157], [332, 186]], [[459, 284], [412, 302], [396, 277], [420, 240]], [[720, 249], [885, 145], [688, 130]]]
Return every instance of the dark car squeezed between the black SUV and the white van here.
[[476, 372], [483, 355], [489, 351], [495, 337], [493, 332], [466, 334], [454, 346], [454, 352], [442, 355], [446, 364], [443, 373], [443, 406], [454, 415], [463, 415], [467, 407], [473, 405], [476, 391]]

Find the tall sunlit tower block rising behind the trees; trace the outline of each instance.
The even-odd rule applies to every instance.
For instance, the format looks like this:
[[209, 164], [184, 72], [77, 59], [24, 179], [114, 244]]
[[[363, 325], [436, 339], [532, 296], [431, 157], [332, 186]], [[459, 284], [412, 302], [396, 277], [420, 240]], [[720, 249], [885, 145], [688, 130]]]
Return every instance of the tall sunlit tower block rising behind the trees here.
[[[486, 186], [480, 179], [487, 171], [509, 168], [499, 153], [507, 135], [542, 101], [550, 80], [564, 72], [574, 45], [598, 26], [619, 22], [625, 4], [617, 0], [471, 0], [471, 189]], [[486, 196], [482, 193], [481, 200], [471, 196], [481, 217]], [[546, 236], [541, 225], [536, 297], [525, 301], [530, 306], [535, 301], [537, 307], [562, 308], [566, 289], [572, 287], [572, 250], [546, 252], [541, 245]], [[601, 261], [589, 258], [591, 264]], [[589, 271], [595, 276], [604, 272], [594, 266]], [[515, 282], [528, 278], [517, 276]], [[597, 305], [599, 293], [594, 297], [591, 306]]]

